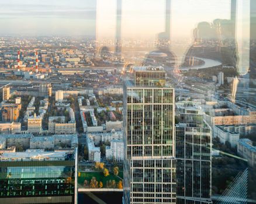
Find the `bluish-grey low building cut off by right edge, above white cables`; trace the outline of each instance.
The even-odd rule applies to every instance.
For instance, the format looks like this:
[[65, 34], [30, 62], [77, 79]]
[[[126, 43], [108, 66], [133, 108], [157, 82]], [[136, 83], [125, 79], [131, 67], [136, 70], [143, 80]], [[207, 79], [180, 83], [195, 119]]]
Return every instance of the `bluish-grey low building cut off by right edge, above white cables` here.
[[256, 146], [252, 146], [250, 139], [240, 139], [237, 145], [237, 153], [248, 160], [248, 164], [256, 167]]

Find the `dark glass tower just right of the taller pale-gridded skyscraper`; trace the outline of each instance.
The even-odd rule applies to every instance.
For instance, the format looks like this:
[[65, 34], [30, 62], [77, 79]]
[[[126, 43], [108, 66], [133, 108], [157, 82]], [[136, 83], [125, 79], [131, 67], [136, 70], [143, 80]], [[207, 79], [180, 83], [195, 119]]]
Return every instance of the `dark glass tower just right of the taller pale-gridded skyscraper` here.
[[212, 203], [212, 130], [198, 107], [180, 108], [176, 125], [177, 203]]

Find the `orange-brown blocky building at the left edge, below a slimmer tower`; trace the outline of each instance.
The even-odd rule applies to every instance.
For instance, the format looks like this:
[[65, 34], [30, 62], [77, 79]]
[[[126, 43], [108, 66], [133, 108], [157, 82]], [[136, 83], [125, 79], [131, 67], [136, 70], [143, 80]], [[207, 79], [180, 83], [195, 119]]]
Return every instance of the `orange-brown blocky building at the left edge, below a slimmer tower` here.
[[17, 122], [19, 119], [18, 105], [7, 105], [2, 107], [1, 116], [3, 122]]

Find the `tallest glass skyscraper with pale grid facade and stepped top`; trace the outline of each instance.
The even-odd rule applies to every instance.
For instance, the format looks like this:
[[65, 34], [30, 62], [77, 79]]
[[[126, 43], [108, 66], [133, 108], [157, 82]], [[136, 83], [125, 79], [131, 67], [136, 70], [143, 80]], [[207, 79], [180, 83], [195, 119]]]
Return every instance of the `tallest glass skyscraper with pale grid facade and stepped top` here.
[[174, 89], [164, 69], [124, 83], [124, 203], [176, 203]]

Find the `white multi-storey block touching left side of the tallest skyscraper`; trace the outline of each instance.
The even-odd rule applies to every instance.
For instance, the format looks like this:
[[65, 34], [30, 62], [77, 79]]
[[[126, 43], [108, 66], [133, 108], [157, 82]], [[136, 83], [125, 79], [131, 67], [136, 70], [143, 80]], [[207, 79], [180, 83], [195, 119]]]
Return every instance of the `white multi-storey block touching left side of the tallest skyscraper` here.
[[123, 140], [112, 140], [110, 146], [106, 146], [106, 160], [123, 161]]

